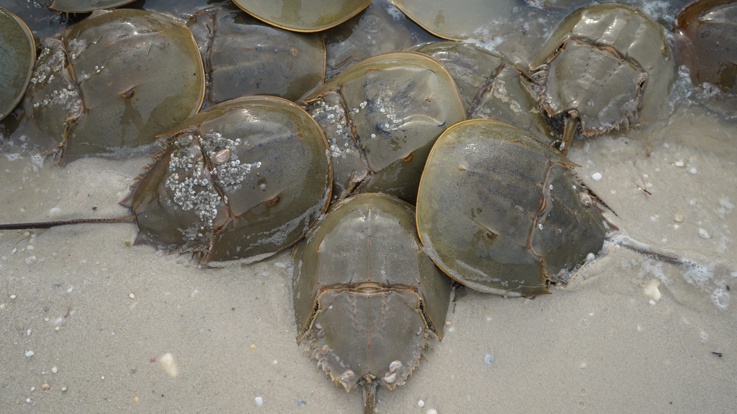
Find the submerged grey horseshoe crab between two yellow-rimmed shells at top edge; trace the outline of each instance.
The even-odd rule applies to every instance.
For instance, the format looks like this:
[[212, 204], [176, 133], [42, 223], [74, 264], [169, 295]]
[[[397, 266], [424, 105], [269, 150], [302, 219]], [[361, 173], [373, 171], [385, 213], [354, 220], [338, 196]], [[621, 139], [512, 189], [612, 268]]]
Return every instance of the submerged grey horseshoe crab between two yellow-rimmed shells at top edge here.
[[438, 41], [388, 0], [373, 0], [361, 13], [323, 32], [329, 79], [368, 57]]

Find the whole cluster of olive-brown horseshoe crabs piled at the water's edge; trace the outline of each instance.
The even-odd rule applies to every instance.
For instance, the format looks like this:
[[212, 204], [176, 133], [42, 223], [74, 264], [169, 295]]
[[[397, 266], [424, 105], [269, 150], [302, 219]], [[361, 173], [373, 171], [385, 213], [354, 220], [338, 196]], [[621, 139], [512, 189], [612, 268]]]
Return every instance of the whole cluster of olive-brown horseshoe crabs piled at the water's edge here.
[[[528, 67], [458, 42], [511, 0], [391, 0], [416, 24], [385, 0], [356, 20], [371, 1], [235, 0], [187, 24], [98, 10], [125, 3], [55, 0], [97, 11], [41, 41], [35, 68], [33, 33], [0, 9], [0, 119], [21, 102], [0, 144], [28, 133], [65, 164], [159, 138], [122, 201], [133, 214], [0, 229], [135, 222], [137, 243], [203, 264], [294, 246], [297, 342], [332, 382], [363, 386], [366, 413], [441, 339], [444, 274], [541, 295], [595, 257], [615, 226], [565, 157], [571, 138], [652, 122], [676, 69], [663, 27], [618, 3], [571, 13]], [[680, 60], [726, 113], [735, 10], [701, 0], [675, 24]]]

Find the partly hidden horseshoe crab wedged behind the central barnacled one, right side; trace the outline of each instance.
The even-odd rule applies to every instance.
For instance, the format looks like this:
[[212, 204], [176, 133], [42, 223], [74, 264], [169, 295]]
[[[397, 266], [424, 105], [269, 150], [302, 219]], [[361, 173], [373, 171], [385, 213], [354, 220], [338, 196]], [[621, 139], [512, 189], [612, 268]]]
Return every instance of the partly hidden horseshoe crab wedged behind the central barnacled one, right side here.
[[542, 141], [557, 138], [539, 110], [532, 80], [509, 60], [472, 43], [441, 41], [412, 50], [436, 58], [453, 75], [468, 119], [513, 124]]

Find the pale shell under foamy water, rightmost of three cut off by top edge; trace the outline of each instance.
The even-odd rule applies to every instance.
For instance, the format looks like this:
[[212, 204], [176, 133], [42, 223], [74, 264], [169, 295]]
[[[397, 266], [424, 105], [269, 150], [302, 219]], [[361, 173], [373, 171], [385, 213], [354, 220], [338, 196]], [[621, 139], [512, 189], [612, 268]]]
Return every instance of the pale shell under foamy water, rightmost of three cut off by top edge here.
[[517, 6], [514, 0], [390, 0], [422, 27], [451, 41], [488, 35], [492, 22], [503, 20]]

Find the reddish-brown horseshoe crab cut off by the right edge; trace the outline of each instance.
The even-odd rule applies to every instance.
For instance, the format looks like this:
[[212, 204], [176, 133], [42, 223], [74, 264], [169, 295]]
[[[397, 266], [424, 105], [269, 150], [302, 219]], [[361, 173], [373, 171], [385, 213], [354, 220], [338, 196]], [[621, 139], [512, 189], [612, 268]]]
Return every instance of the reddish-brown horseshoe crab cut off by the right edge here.
[[737, 1], [689, 4], [676, 16], [674, 32], [680, 63], [695, 85], [710, 92], [705, 104], [737, 116]]

